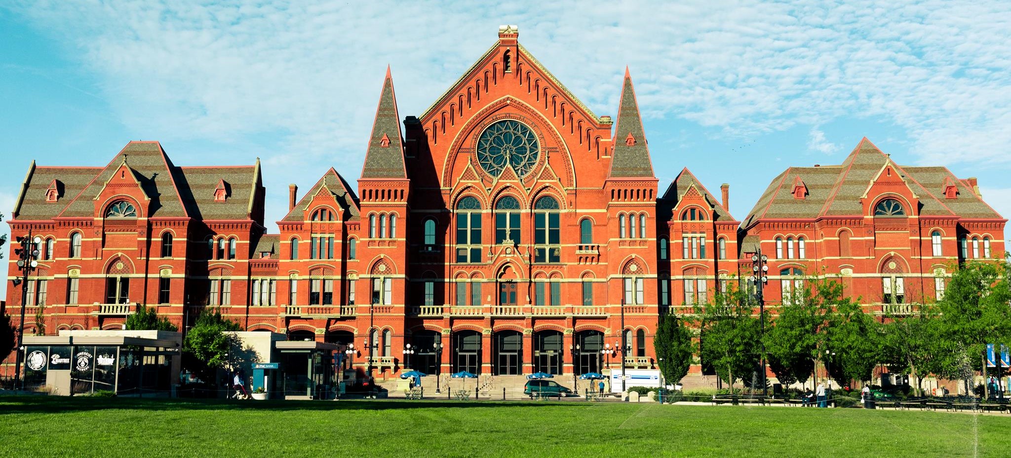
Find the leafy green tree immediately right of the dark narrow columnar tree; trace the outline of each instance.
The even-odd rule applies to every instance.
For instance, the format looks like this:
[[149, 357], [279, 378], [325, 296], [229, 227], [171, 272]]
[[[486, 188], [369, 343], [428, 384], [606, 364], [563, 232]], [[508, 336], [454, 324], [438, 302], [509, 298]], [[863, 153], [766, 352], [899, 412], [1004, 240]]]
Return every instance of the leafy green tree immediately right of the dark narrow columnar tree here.
[[716, 294], [712, 303], [696, 307], [700, 319], [699, 355], [731, 389], [736, 380], [747, 380], [759, 367], [761, 330], [752, 312], [749, 297], [736, 288]]

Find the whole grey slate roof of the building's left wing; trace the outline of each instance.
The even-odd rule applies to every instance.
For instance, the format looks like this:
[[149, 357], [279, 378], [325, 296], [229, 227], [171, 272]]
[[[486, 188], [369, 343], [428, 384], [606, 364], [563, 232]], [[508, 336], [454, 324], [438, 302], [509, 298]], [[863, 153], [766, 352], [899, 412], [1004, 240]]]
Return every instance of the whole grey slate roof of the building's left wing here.
[[[26, 220], [92, 217], [95, 196], [124, 161], [151, 197], [149, 217], [262, 219], [252, 210], [264, 194], [259, 161], [255, 166], [181, 168], [172, 164], [158, 142], [130, 142], [105, 167], [40, 167], [32, 162], [13, 216]], [[53, 180], [57, 180], [59, 200], [47, 202], [45, 190]], [[224, 202], [215, 202], [214, 188], [221, 180], [229, 193]]]

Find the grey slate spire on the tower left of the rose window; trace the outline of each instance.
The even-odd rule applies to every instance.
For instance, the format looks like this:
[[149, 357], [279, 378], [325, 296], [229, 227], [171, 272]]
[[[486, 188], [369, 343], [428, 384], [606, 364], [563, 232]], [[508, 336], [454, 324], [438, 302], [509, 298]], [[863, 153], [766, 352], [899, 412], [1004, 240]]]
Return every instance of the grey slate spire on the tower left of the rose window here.
[[393, 93], [393, 77], [386, 66], [386, 78], [376, 118], [372, 123], [372, 134], [362, 166], [362, 178], [407, 178], [403, 165], [403, 136], [400, 134], [400, 116], [396, 110], [396, 96]]

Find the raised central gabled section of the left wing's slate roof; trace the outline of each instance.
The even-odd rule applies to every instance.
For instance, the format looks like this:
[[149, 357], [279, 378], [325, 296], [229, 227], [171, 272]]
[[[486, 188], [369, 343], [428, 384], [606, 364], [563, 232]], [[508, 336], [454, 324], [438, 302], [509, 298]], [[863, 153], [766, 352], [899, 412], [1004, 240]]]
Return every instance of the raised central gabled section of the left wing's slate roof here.
[[148, 216], [188, 216], [176, 189], [172, 162], [158, 142], [130, 142], [77, 196], [60, 216], [92, 216], [94, 199], [123, 161], [128, 160], [130, 170], [141, 184], [141, 189], [151, 197]]

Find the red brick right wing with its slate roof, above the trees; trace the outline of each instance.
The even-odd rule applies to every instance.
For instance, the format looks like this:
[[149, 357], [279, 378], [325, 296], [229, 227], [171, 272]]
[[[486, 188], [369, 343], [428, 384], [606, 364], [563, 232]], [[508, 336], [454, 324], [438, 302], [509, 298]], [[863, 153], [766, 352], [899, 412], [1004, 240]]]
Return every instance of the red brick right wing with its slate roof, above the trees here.
[[863, 139], [842, 165], [772, 180], [741, 224], [742, 275], [760, 247], [767, 301], [790, 300], [802, 276], [829, 275], [879, 314], [908, 313], [941, 297], [958, 263], [1002, 258], [1005, 222], [975, 178], [900, 166]]

